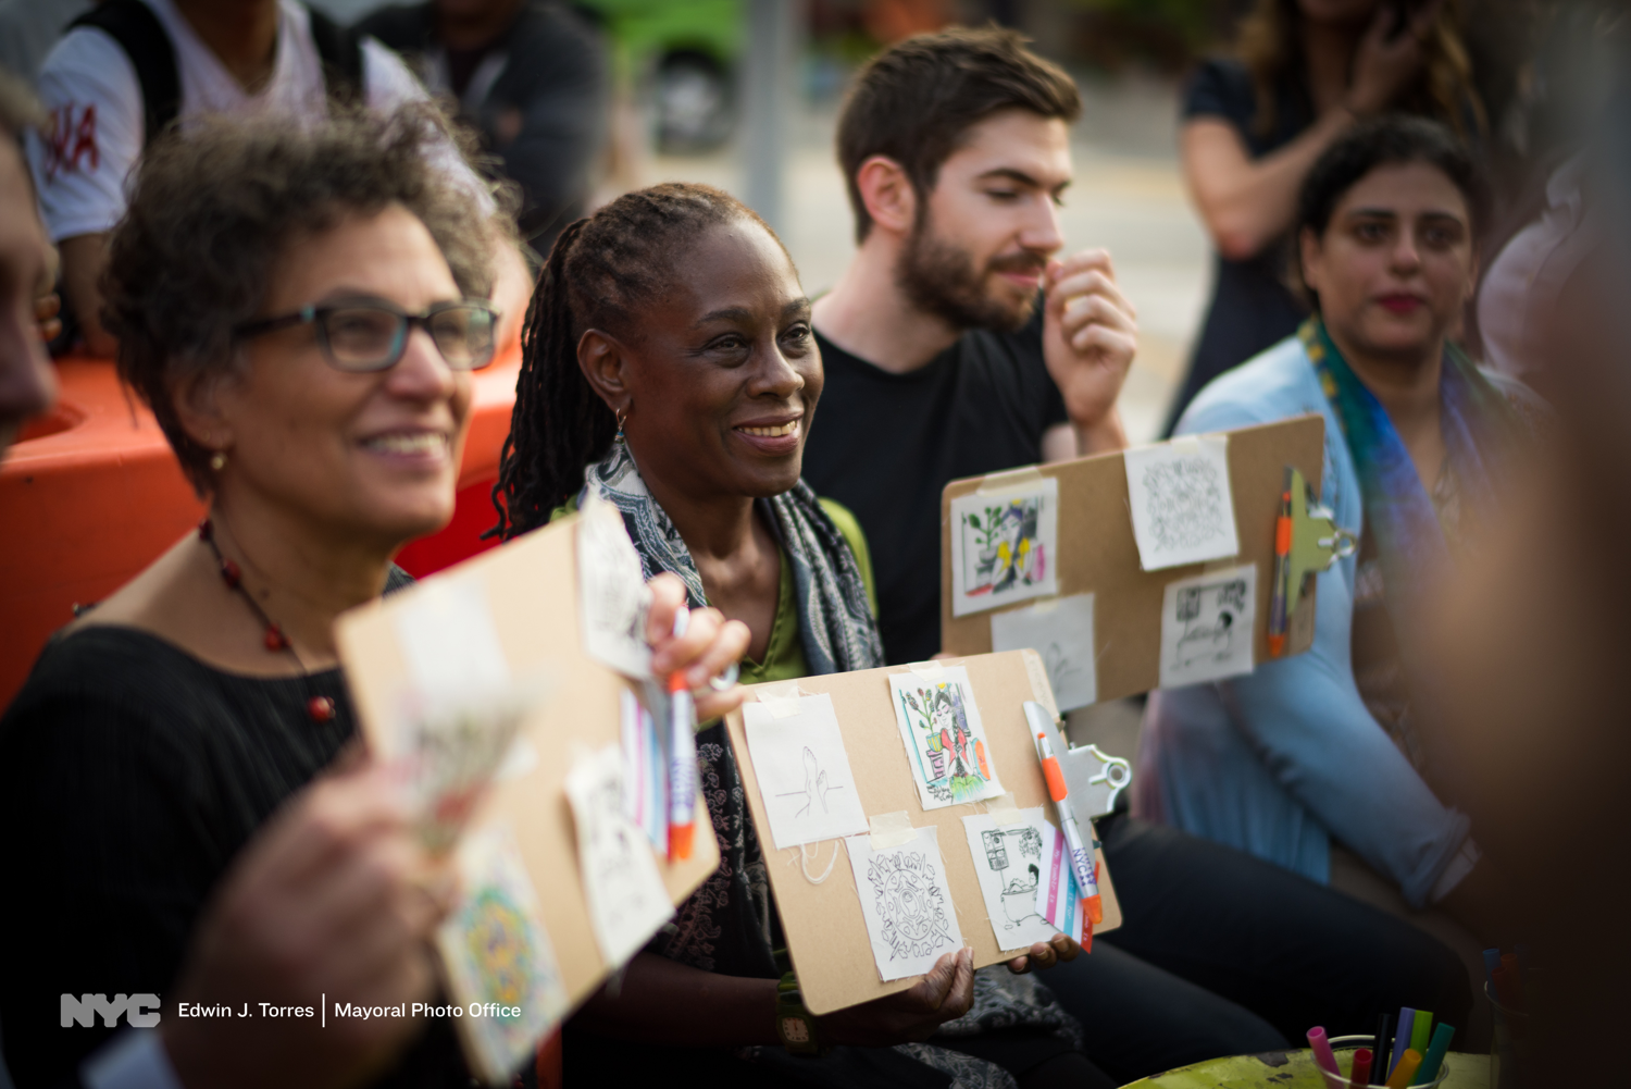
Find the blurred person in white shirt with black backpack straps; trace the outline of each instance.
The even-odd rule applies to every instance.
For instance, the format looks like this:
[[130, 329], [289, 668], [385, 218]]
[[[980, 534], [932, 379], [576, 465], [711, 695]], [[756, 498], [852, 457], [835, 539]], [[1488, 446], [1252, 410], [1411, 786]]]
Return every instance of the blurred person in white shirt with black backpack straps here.
[[[46, 227], [62, 250], [67, 309], [85, 349], [111, 356], [98, 287], [108, 232], [124, 214], [126, 176], [168, 122], [204, 114], [316, 119], [329, 103], [390, 111], [424, 90], [390, 49], [297, 0], [104, 0], [46, 57], [39, 96], [51, 129], [29, 142], [29, 163]], [[427, 153], [470, 176], [457, 155]], [[470, 186], [480, 183], [470, 176]], [[496, 224], [494, 302], [519, 327], [530, 281]]]

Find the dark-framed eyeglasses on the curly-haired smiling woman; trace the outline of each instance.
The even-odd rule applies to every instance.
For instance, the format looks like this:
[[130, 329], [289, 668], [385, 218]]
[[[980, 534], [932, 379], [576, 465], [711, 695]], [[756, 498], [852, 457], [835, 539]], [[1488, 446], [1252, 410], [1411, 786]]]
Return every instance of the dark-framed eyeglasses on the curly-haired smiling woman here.
[[494, 330], [499, 315], [476, 299], [437, 302], [421, 313], [408, 313], [388, 302], [338, 302], [302, 307], [276, 318], [245, 322], [233, 330], [240, 340], [272, 330], [316, 325], [323, 358], [338, 371], [388, 371], [408, 351], [408, 330], [424, 328], [442, 359], [453, 371], [480, 371], [493, 362]]

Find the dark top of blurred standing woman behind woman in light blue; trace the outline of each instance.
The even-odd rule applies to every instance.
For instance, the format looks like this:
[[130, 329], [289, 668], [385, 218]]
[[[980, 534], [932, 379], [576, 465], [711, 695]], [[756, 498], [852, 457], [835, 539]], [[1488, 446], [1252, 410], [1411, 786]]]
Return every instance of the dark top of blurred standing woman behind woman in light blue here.
[[[1274, 101], [1274, 127], [1258, 131], [1258, 98], [1251, 72], [1240, 60], [1212, 59], [1200, 64], [1184, 88], [1184, 121], [1218, 118], [1230, 122], [1253, 158], [1295, 140], [1315, 122], [1313, 104], [1298, 80], [1282, 82]], [[1285, 286], [1285, 238], [1277, 238], [1256, 256], [1230, 261], [1218, 255], [1212, 304], [1189, 362], [1189, 376], [1173, 402], [1168, 431], [1207, 382], [1246, 362], [1264, 348], [1292, 333], [1306, 309]]]

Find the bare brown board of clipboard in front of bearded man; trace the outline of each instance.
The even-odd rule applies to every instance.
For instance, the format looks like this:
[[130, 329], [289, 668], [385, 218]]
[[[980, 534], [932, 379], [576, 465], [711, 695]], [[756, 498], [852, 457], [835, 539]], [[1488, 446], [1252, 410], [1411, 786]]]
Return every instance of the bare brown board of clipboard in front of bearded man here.
[[[1319, 495], [1324, 465], [1324, 418], [1297, 416], [1228, 431], [1230, 491], [1240, 557], [1145, 571], [1134, 540], [1122, 454], [1098, 454], [1037, 465], [1032, 472], [1059, 480], [1059, 594], [1091, 593], [1099, 700], [1148, 692], [1161, 684], [1161, 602], [1166, 585], [1213, 567], [1258, 565], [1253, 658], [1269, 656], [1269, 598], [1274, 593], [1274, 522], [1280, 514], [1285, 467], [1295, 465]], [[992, 616], [951, 614], [951, 503], [980, 490], [987, 477], [953, 480], [941, 493], [941, 648], [953, 655], [992, 650]], [[1292, 616], [1285, 653], [1300, 655], [1315, 642], [1315, 580]], [[1047, 599], [1042, 599], [1047, 601]], [[1021, 602], [1034, 606], [1036, 601]], [[1006, 785], [1006, 779], [1003, 780]]]

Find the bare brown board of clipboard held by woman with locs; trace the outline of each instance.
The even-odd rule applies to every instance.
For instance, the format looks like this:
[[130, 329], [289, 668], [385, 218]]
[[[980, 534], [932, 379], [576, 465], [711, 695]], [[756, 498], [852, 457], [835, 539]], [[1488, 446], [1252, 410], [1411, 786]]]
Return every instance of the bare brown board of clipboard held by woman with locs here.
[[[990, 627], [985, 614], [970, 619]], [[1047, 797], [1042, 766], [1037, 762], [1023, 709], [1028, 699], [1054, 707], [1054, 694], [1047, 691], [1047, 671], [1042, 660], [1034, 651], [1014, 650], [936, 665], [967, 668], [992, 758], [1003, 769], [1003, 787], [1013, 792], [1013, 805], [1019, 808], [1041, 805], [1047, 820], [1057, 825], [1054, 803]], [[1003, 955], [997, 947], [997, 936], [985, 913], [985, 896], [980, 891], [980, 878], [974, 870], [974, 856], [969, 854], [967, 834], [962, 826], [964, 816], [985, 813], [990, 803], [964, 802], [923, 810], [913, 785], [912, 769], [907, 764], [908, 754], [900, 741], [900, 730], [895, 727], [895, 710], [889, 691], [889, 674], [892, 673], [910, 673], [910, 668], [884, 666], [799, 678], [798, 684], [804, 692], [825, 692], [832, 697], [843, 746], [855, 772], [855, 787], [866, 813], [879, 816], [904, 810], [915, 828], [935, 825], [939, 829], [936, 836], [941, 846], [941, 860], [957, 911], [957, 926], [966, 942], [974, 947], [974, 967], [1011, 960], [1013, 953]], [[749, 699], [754, 699], [754, 694], [762, 689], [773, 692], [776, 686], [752, 686]], [[848, 860], [838, 857], [837, 865], [820, 883], [806, 877], [806, 869], [816, 877], [827, 870], [833, 852], [843, 854], [843, 842], [824, 839], [802, 849], [775, 851], [770, 847], [770, 836], [765, 834], [768, 829], [765, 802], [758, 792], [754, 761], [747, 756], [742, 712], [732, 712], [726, 718], [726, 730], [737, 756], [742, 784], [747, 789], [747, 805], [754, 815], [754, 825], [760, 829], [760, 844], [765, 846], [770, 890], [776, 898], [776, 909], [781, 913], [781, 929], [788, 937], [788, 952], [793, 957], [793, 970], [799, 976], [804, 1004], [814, 1014], [830, 1014], [835, 1009], [869, 1002], [874, 998], [910, 988], [922, 976], [895, 980], [894, 983], [884, 983], [877, 978], [877, 963], [873, 960], [873, 944], [861, 916], [861, 901]], [[1120, 906], [1116, 901], [1109, 867], [1104, 865], [1104, 854], [1098, 852], [1098, 859], [1104, 921], [1094, 927], [1094, 934], [1104, 934], [1120, 926]]]

